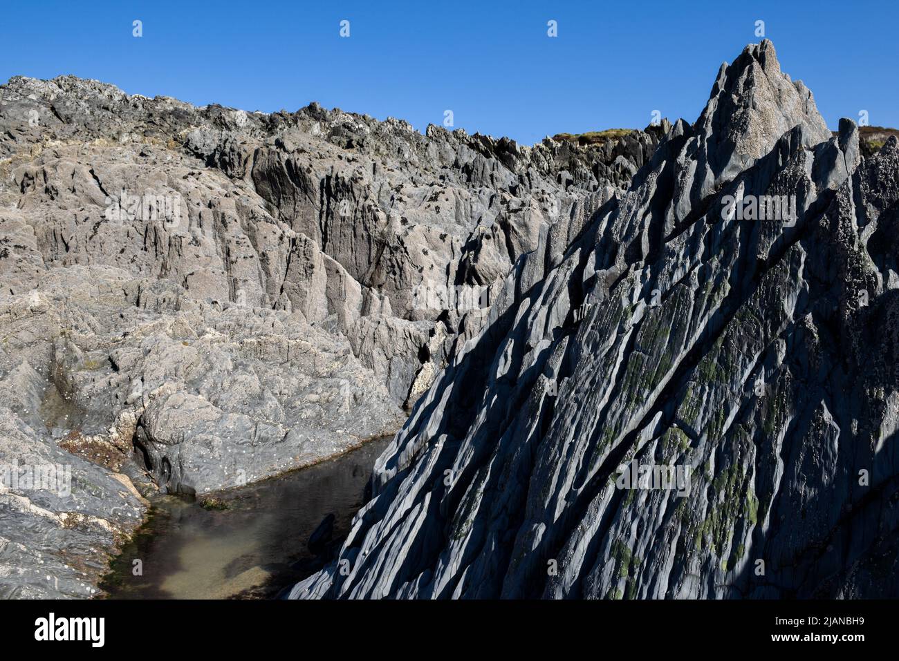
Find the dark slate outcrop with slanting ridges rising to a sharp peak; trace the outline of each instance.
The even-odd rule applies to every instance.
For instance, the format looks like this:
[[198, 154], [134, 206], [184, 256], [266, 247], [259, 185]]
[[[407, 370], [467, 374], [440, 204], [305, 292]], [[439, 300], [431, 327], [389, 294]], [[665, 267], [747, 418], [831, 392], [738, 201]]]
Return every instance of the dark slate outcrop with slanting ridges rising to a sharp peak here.
[[895, 137], [862, 159], [747, 47], [626, 194], [515, 263], [291, 595], [899, 594], [897, 200]]

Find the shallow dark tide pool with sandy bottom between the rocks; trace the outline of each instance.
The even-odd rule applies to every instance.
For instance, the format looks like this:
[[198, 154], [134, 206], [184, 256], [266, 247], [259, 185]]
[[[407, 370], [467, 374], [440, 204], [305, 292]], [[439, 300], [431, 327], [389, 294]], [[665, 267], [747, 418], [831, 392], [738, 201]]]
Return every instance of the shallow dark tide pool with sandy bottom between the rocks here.
[[[111, 598], [277, 595], [315, 570], [307, 541], [326, 516], [335, 516], [335, 539], [349, 531], [371, 467], [388, 442], [370, 441], [315, 466], [216, 494], [227, 505], [222, 510], [174, 496], [156, 499], [102, 589]], [[134, 575], [134, 560], [142, 575]]]

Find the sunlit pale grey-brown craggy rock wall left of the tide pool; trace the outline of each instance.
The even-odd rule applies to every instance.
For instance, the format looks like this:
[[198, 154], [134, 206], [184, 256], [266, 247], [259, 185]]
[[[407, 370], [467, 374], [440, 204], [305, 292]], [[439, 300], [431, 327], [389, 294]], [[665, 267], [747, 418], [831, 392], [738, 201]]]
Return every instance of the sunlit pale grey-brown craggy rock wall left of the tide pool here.
[[[16, 568], [39, 549], [102, 558], [143, 515], [120, 493], [136, 467], [200, 494], [395, 433], [479, 331], [480, 296], [541, 242], [570, 242], [664, 130], [524, 147], [317, 104], [0, 86], [0, 379], [28, 384], [0, 400], [16, 429], [0, 463], [33, 445], [96, 485], [74, 501], [3, 492], [9, 594], [78, 594]], [[476, 304], [447, 295], [466, 287]], [[64, 524], [82, 510], [84, 540]]]

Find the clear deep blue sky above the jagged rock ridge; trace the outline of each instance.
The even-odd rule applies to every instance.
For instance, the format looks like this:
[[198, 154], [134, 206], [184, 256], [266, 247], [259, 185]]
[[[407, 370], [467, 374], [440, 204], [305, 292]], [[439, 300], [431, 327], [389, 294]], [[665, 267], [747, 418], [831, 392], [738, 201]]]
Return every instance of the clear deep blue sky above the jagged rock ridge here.
[[2, 0], [0, 81], [74, 74], [245, 110], [319, 101], [420, 130], [452, 110], [456, 128], [532, 144], [643, 128], [656, 109], [695, 120], [718, 66], [760, 40], [762, 20], [829, 126], [859, 110], [899, 126], [899, 4], [747, 4]]

